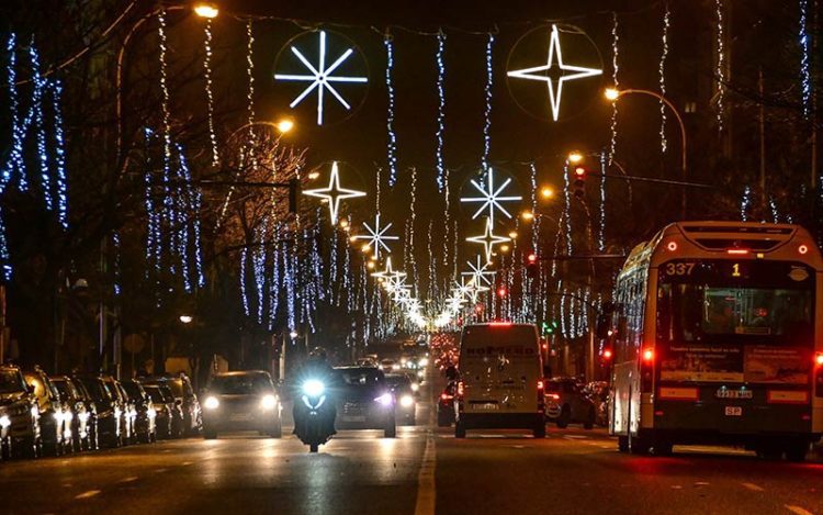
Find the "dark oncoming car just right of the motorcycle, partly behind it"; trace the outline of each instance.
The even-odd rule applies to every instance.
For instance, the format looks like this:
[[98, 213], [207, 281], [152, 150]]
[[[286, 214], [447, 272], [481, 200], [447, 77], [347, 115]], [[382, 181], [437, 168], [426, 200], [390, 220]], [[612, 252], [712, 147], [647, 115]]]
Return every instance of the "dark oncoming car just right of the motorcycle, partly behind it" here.
[[395, 398], [380, 369], [338, 367], [337, 427], [383, 429], [386, 438], [396, 435]]

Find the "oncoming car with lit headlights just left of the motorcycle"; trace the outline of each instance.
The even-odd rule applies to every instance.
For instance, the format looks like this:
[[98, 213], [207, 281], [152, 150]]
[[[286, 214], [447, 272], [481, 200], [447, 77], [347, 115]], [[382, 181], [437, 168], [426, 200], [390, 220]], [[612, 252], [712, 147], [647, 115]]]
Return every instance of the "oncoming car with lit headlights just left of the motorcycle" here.
[[280, 438], [283, 405], [269, 372], [247, 370], [212, 376], [203, 392], [203, 436], [256, 430]]

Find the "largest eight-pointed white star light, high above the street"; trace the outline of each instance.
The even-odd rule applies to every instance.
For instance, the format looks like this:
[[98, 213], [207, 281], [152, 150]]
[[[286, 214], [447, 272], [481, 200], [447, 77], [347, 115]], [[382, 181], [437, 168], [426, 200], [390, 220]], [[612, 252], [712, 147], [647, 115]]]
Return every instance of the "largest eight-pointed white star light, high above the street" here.
[[303, 90], [302, 93], [300, 93], [292, 103], [289, 104], [290, 108], [294, 109], [297, 104], [300, 104], [303, 99], [305, 99], [308, 93], [317, 90], [317, 125], [323, 125], [323, 92], [325, 90], [328, 90], [329, 93], [331, 93], [335, 99], [337, 99], [338, 102], [340, 102], [340, 105], [342, 105], [347, 111], [351, 110], [351, 105], [346, 101], [346, 99], [342, 98], [342, 96], [331, 86], [331, 82], [368, 82], [369, 79], [367, 77], [347, 77], [347, 76], [340, 76], [340, 75], [331, 75], [337, 68], [340, 67], [340, 65], [343, 64], [346, 59], [348, 59], [351, 54], [354, 52], [353, 48], [347, 48], [346, 52], [343, 52], [340, 57], [337, 58], [331, 65], [326, 67], [326, 31], [320, 31], [320, 47], [319, 47], [319, 56], [317, 60], [317, 66], [315, 67], [312, 65], [312, 63], [306, 59], [306, 57], [303, 55], [302, 52], [296, 46], [291, 47], [292, 54], [294, 54], [301, 63], [303, 63], [303, 66], [306, 67], [309, 75], [294, 75], [294, 74], [274, 74], [275, 80], [296, 80], [296, 81], [303, 81], [303, 82], [311, 82], [306, 89]]

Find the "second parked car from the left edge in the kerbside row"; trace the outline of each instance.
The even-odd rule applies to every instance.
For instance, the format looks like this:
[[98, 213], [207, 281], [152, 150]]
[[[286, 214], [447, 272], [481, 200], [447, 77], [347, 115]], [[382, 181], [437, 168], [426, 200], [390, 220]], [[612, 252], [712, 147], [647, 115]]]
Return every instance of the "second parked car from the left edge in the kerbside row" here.
[[61, 456], [71, 450], [71, 419], [74, 414], [67, 405], [64, 408], [60, 394], [40, 367], [23, 372], [25, 382], [34, 387], [40, 412], [41, 436], [45, 451]]

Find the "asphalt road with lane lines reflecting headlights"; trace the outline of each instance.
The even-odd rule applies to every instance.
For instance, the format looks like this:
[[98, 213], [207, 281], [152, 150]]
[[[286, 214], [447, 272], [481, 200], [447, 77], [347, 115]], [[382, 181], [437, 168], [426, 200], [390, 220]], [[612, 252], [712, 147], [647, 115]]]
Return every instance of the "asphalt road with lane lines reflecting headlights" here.
[[[428, 406], [418, 419], [428, 419]], [[823, 461], [732, 449], [617, 451], [602, 429], [401, 427], [340, 432], [318, 455], [292, 437], [191, 438], [0, 463], [0, 513], [823, 514]]]

